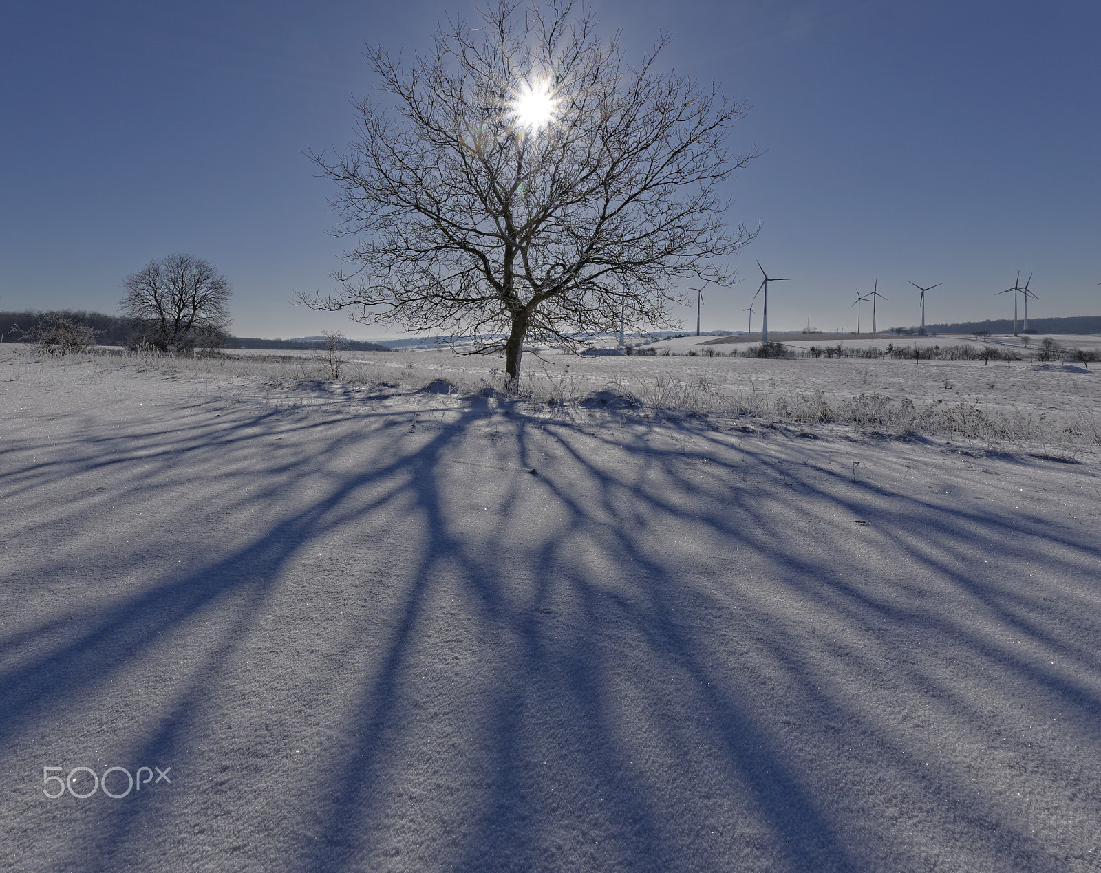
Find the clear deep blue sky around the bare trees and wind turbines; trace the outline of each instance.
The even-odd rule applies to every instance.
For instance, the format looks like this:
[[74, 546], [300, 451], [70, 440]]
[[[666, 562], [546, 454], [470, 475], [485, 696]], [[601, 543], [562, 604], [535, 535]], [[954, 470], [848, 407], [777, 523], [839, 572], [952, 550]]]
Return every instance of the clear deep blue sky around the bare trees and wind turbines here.
[[[763, 223], [745, 281], [705, 297], [704, 328], [746, 325], [755, 259], [791, 282], [770, 327], [1101, 314], [1101, 3], [761, 0], [592, 3], [637, 56], [752, 106], [732, 144], [764, 154], [732, 186]], [[115, 312], [127, 273], [186, 251], [231, 281], [239, 336], [323, 328], [293, 306], [327, 291], [344, 248], [331, 183], [302, 151], [342, 149], [349, 98], [374, 85], [364, 43], [423, 47], [468, 0], [9, 3], [0, 26], [0, 309]], [[760, 310], [760, 307], [757, 307]], [[683, 313], [695, 326], [695, 312]], [[865, 312], [866, 316], [866, 312]], [[760, 319], [754, 319], [754, 327]], [[865, 327], [866, 329], [866, 327]]]

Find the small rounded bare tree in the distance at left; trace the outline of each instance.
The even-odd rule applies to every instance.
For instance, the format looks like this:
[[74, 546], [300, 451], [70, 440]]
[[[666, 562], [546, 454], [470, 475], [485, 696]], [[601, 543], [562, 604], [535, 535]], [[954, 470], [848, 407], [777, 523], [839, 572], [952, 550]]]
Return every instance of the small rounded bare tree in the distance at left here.
[[206, 261], [176, 252], [122, 280], [119, 309], [140, 323], [137, 341], [172, 351], [210, 345], [229, 327], [229, 282]]

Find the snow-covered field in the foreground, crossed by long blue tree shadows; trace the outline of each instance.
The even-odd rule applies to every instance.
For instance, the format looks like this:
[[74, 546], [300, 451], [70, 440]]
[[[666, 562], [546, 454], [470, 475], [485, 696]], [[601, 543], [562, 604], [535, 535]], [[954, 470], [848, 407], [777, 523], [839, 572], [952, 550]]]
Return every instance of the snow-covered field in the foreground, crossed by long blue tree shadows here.
[[239, 357], [0, 351], [4, 869], [1101, 869], [1101, 375]]

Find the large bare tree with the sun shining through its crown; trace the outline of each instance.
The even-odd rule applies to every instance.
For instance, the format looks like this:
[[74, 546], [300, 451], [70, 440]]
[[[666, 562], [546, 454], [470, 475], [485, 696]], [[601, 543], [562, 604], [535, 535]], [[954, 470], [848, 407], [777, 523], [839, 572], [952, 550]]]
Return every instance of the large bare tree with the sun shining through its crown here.
[[357, 240], [340, 287], [299, 302], [473, 337], [515, 379], [525, 338], [577, 351], [621, 318], [675, 326], [680, 280], [734, 281], [716, 259], [755, 233], [723, 219], [754, 156], [726, 146], [744, 105], [659, 72], [667, 36], [631, 65], [571, 8], [503, 0], [407, 66], [369, 51], [392, 106], [357, 102], [349, 153], [310, 153]]

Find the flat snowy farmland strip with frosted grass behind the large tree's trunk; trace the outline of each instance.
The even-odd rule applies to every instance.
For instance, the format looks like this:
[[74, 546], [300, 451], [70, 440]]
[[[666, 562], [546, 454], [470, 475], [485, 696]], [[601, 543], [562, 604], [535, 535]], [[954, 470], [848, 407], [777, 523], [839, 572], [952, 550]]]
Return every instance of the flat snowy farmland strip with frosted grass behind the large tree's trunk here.
[[[612, 389], [631, 395], [650, 414], [673, 411], [722, 418], [749, 414], [772, 423], [855, 425], [893, 436], [945, 433], [980, 440], [986, 449], [1006, 440], [1035, 443], [1045, 454], [1072, 455], [1080, 447], [1101, 446], [1101, 379], [1088, 365], [1062, 361], [1036, 369], [1032, 361], [689, 357], [685, 350], [706, 352], [715, 347], [698, 345], [696, 337], [684, 345], [688, 339], [673, 340], [683, 343], [680, 353], [668, 357], [528, 353], [521, 390], [534, 400], [569, 403]], [[1078, 340], [1075, 348], [1090, 349], [1090, 340], [1101, 347], [1098, 337], [1084, 342], [1070, 339]], [[735, 348], [748, 347], [742, 342]], [[271, 356], [235, 354], [241, 360], [187, 365], [269, 381], [331, 374], [314, 352], [268, 363], [261, 361]], [[449, 351], [345, 357], [341, 375], [368, 384], [395, 381], [422, 388], [443, 379], [461, 394], [500, 388], [503, 379], [502, 362], [492, 357]]]

